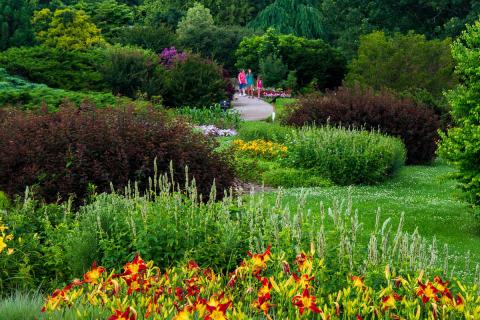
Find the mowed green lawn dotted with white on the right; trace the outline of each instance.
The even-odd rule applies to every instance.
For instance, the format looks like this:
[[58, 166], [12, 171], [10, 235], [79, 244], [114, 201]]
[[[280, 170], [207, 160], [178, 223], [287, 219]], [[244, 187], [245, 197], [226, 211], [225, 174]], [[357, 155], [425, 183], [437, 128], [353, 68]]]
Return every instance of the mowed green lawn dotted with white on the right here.
[[[394, 231], [402, 212], [405, 214], [404, 230], [438, 240], [443, 251], [448, 244], [451, 262], [472, 276], [475, 264], [480, 263], [480, 225], [472, 209], [459, 198], [455, 182], [448, 179], [453, 169], [443, 163], [433, 166], [407, 166], [392, 180], [374, 186], [324, 187], [306, 189], [306, 209], [319, 210], [319, 204], [331, 206], [334, 199], [352, 197], [353, 207], [358, 209], [363, 223], [360, 241], [367, 244], [370, 232], [375, 228], [378, 208], [381, 220], [391, 218]], [[295, 208], [301, 189], [284, 190], [284, 204]], [[276, 192], [265, 194], [267, 201], [275, 201]], [[327, 219], [328, 221], [328, 219]], [[469, 257], [469, 265], [466, 258]], [[450, 268], [452, 264], [450, 264]]]

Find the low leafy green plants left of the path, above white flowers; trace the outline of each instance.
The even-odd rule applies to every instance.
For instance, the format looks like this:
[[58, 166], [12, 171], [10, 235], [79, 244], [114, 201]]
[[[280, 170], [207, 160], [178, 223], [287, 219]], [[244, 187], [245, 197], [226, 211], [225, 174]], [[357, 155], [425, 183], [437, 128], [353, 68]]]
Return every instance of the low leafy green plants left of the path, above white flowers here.
[[228, 109], [224, 111], [220, 105], [216, 104], [208, 108], [177, 108], [176, 113], [186, 117], [189, 122], [195, 125], [213, 124], [217, 128], [238, 128], [242, 119], [238, 111]]

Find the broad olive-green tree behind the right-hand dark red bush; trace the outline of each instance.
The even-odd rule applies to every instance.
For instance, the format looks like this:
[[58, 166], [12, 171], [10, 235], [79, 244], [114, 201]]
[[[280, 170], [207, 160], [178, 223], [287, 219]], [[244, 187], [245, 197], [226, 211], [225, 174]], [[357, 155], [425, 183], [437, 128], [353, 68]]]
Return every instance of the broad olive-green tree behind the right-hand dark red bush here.
[[450, 39], [427, 40], [414, 33], [362, 36], [347, 82], [397, 92], [424, 89], [439, 98], [457, 83], [450, 44]]

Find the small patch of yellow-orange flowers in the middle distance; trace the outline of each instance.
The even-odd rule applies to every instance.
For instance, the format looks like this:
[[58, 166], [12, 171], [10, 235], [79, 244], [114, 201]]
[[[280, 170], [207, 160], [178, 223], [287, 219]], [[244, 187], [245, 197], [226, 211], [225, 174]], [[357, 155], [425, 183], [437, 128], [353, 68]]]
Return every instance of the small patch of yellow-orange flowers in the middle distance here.
[[288, 151], [283, 144], [259, 139], [253, 141], [238, 139], [233, 141], [232, 146], [235, 152], [264, 159], [285, 158]]

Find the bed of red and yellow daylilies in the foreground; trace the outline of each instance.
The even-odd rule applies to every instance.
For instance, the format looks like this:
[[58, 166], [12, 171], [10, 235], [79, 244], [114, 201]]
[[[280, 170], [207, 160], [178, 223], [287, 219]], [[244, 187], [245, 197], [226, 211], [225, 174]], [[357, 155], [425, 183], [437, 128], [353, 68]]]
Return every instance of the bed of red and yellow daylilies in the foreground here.
[[[115, 319], [447, 319], [480, 317], [475, 287], [450, 283], [441, 277], [351, 275], [331, 282], [315, 252], [300, 253], [293, 264], [283, 255], [251, 254], [228, 275], [216, 274], [190, 261], [182, 267], [160, 270], [140, 256], [123, 271], [93, 265], [46, 300], [43, 312], [67, 308], [77, 318], [88, 318], [92, 308]], [[85, 307], [90, 309], [86, 309]], [[97, 312], [98, 314], [98, 312]]]

